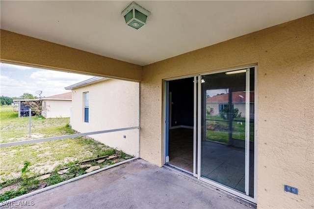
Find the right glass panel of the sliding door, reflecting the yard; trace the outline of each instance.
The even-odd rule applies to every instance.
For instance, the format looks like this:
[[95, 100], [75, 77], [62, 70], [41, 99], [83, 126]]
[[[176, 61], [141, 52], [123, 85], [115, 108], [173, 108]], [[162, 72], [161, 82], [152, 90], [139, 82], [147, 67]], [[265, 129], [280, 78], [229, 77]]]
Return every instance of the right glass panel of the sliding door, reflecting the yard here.
[[254, 197], [254, 68], [202, 76], [200, 174]]

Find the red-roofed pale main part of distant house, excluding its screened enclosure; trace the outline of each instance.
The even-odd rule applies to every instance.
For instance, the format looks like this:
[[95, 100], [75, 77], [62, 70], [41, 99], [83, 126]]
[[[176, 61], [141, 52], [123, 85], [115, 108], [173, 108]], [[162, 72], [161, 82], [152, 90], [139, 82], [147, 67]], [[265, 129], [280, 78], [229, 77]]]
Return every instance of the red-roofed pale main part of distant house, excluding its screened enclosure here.
[[72, 92], [41, 98], [42, 116], [45, 118], [70, 117]]

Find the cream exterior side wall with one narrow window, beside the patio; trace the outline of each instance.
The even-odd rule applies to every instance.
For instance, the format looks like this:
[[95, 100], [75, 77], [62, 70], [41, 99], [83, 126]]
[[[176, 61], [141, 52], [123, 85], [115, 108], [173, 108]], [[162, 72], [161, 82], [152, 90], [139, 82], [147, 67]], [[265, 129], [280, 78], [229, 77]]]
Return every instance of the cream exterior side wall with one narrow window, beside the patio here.
[[[89, 93], [89, 122], [84, 122], [84, 97]], [[72, 90], [72, 128], [81, 133], [139, 126], [139, 83], [109, 79]], [[126, 138], [123, 136], [126, 135]], [[90, 135], [105, 145], [138, 156], [137, 129]]]

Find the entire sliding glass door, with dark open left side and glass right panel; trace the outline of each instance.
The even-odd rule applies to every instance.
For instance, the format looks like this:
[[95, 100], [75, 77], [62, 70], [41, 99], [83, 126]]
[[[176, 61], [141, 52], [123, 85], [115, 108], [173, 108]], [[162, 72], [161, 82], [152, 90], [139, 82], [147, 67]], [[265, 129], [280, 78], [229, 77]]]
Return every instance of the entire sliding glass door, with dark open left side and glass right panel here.
[[165, 81], [165, 164], [252, 202], [255, 71]]

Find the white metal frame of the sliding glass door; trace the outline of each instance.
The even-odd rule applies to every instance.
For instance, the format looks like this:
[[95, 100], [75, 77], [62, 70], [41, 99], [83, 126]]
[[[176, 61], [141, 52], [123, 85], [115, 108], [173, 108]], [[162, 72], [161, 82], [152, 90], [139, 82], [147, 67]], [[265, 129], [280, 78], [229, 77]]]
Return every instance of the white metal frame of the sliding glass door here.
[[[216, 183], [214, 181], [211, 181], [209, 179], [205, 179], [201, 177], [200, 171], [201, 171], [201, 130], [200, 128], [197, 129], [196, 135], [193, 134], [193, 176], [197, 178], [198, 180], [209, 183], [212, 186], [215, 186], [217, 188], [220, 188], [224, 191], [227, 191], [231, 194], [234, 194], [240, 198], [243, 198], [247, 201], [257, 203], [257, 160], [258, 160], [258, 66], [257, 64], [254, 65], [247, 65], [244, 67], [238, 67], [238, 68], [229, 68], [225, 70], [218, 70], [218, 71], [212, 71], [212, 72], [205, 72], [201, 74], [193, 74], [189, 76], [182, 76], [182, 77], [175, 77], [175, 78], [167, 78], [163, 79], [163, 164], [165, 165], [169, 161], [169, 157], [166, 155], [168, 154], [168, 131], [169, 131], [169, 86], [168, 86], [168, 81], [171, 80], [177, 80], [177, 79], [182, 79], [182, 78], [192, 78], [194, 77], [194, 104], [196, 103], [197, 100], [197, 106], [194, 105], [194, 117], [197, 114], [197, 120], [194, 118], [194, 132], [197, 127], [201, 127], [201, 82], [195, 83], [196, 78], [198, 80], [201, 80], [202, 76], [205, 75], [212, 75], [212, 74], [217, 74], [217, 73], [224, 73], [228, 71], [236, 71], [236, 70], [242, 70], [242, 69], [247, 69], [247, 68], [254, 68], [254, 197], [250, 197], [244, 193], [241, 193], [239, 191], [236, 191], [235, 189], [232, 189], [226, 185]], [[246, 81], [247, 82], [247, 81]], [[195, 87], [197, 86], [197, 91]], [[197, 93], [197, 95], [196, 95]], [[196, 110], [197, 108], [197, 110]], [[196, 137], [196, 138], [195, 138]], [[197, 142], [196, 142], [197, 141]], [[196, 152], [197, 151], [197, 152]], [[196, 155], [197, 153], [197, 155]], [[194, 157], [195, 156], [195, 157]], [[168, 158], [167, 158], [168, 157]], [[168, 160], [168, 161], [167, 161]], [[197, 163], [196, 163], [197, 162]], [[196, 166], [197, 165], [197, 166]], [[248, 168], [246, 168], [248, 169]]]

